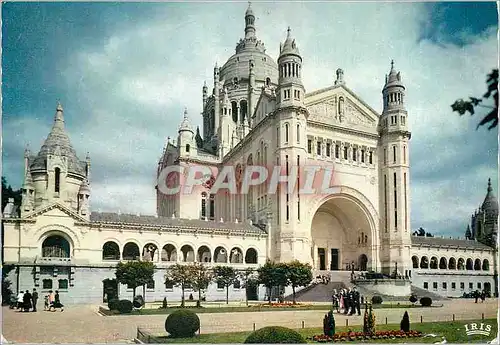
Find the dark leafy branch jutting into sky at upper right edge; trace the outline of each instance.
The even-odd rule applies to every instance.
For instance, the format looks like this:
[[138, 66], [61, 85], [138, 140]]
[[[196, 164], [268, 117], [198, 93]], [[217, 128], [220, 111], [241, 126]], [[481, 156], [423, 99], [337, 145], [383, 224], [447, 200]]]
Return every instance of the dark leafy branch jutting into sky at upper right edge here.
[[[477, 129], [480, 126], [491, 123], [488, 127], [490, 130], [498, 125], [498, 69], [494, 69], [488, 74], [486, 85], [487, 90], [482, 97], [469, 97], [469, 101], [464, 101], [463, 99], [456, 100], [455, 103], [451, 105], [451, 109], [458, 112], [460, 116], [465, 113], [474, 115], [477, 107], [490, 109], [490, 112], [486, 114], [476, 127]], [[493, 97], [494, 106], [484, 105], [484, 101], [491, 97]]]

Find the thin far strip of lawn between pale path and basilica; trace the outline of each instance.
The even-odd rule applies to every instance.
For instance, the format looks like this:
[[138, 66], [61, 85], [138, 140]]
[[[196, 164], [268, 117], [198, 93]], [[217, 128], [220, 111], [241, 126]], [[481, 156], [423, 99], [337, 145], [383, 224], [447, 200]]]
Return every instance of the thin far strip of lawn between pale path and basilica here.
[[[441, 306], [432, 306], [431, 308], [439, 308]], [[420, 305], [412, 305], [412, 304], [374, 304], [373, 309], [385, 309], [385, 308], [424, 308]], [[426, 307], [428, 308], [428, 307]], [[167, 309], [153, 309], [153, 308], [145, 308], [141, 310], [133, 310], [130, 314], [119, 314], [116, 311], [110, 311], [106, 308], [99, 308], [99, 311], [105, 316], [115, 316], [115, 315], [166, 315], [171, 314], [176, 310], [182, 309], [180, 307], [169, 307]], [[265, 307], [265, 306], [249, 306], [249, 307], [208, 307], [208, 308], [195, 308], [189, 307], [189, 310], [197, 313], [241, 313], [241, 312], [262, 312], [262, 311], [301, 311], [301, 310], [324, 310], [328, 311], [331, 309], [330, 304], [313, 304], [301, 307]]]

